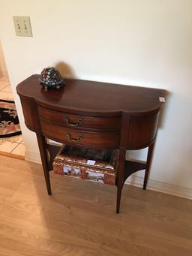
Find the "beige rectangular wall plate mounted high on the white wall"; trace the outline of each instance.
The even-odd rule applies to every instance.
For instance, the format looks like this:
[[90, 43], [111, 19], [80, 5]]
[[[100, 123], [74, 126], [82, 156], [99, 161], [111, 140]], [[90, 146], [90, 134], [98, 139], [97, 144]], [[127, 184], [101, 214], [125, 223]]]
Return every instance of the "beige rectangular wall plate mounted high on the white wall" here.
[[30, 17], [13, 16], [13, 23], [15, 26], [16, 35], [20, 37], [31, 37], [31, 23]]

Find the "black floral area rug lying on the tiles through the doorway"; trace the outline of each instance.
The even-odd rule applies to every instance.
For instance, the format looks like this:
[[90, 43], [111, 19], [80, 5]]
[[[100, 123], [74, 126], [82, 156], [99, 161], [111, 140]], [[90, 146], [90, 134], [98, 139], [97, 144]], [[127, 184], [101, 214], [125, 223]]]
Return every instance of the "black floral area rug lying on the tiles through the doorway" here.
[[14, 101], [0, 100], [0, 138], [21, 134]]

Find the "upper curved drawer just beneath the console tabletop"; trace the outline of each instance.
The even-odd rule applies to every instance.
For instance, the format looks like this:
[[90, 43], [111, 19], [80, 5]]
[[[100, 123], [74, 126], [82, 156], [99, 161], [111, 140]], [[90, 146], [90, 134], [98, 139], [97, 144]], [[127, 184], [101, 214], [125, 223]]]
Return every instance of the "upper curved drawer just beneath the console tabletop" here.
[[120, 117], [91, 117], [77, 116], [60, 111], [49, 110], [45, 107], [38, 106], [39, 116], [53, 122], [59, 122], [66, 127], [73, 128], [92, 128], [119, 131], [121, 126]]

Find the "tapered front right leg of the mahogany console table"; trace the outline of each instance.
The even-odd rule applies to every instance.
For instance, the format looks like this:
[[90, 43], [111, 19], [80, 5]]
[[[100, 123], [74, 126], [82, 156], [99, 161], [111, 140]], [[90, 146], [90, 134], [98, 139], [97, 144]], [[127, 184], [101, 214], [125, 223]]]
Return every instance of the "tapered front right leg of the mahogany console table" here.
[[124, 184], [125, 154], [126, 154], [126, 149], [119, 149], [116, 213], [119, 213], [120, 203], [121, 203], [121, 191], [122, 191], [123, 184]]

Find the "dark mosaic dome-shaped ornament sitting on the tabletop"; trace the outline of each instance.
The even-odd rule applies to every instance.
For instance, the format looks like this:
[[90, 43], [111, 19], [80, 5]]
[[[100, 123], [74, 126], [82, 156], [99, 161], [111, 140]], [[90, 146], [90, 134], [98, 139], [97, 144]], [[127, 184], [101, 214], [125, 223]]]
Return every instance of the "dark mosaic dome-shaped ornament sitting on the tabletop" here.
[[45, 90], [49, 88], [61, 88], [64, 85], [64, 79], [55, 67], [43, 68], [40, 74], [39, 83], [44, 86]]

